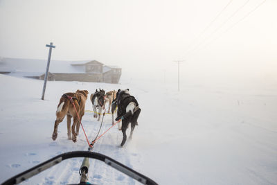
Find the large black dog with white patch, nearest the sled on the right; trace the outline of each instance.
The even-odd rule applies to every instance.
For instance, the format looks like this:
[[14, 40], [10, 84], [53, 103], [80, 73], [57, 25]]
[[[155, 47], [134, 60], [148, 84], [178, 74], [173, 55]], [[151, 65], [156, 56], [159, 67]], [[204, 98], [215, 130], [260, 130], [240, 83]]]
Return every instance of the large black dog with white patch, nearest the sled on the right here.
[[120, 119], [122, 121], [121, 130], [123, 133], [123, 140], [120, 146], [123, 146], [127, 139], [126, 130], [129, 123], [131, 123], [131, 132], [129, 138], [132, 139], [134, 127], [138, 125], [138, 118], [139, 114], [141, 113], [141, 108], [139, 108], [139, 103], [137, 102], [136, 98], [129, 94], [129, 89], [118, 89], [116, 93], [116, 100], [114, 100], [113, 105], [111, 105], [111, 112], [113, 112], [116, 105], [118, 106], [116, 121]]

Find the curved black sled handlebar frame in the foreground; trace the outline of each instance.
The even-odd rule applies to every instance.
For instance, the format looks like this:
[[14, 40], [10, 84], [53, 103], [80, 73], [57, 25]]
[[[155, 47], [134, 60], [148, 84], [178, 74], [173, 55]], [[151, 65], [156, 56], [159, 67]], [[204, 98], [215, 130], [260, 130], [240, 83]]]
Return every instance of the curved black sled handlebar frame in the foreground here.
[[38, 173], [41, 173], [42, 171], [51, 168], [52, 166], [55, 166], [56, 164], [59, 164], [61, 161], [65, 159], [71, 159], [75, 157], [89, 157], [92, 159], [97, 159], [100, 161], [105, 162], [105, 164], [116, 168], [116, 170], [119, 170], [120, 172], [124, 173], [125, 175], [128, 175], [129, 177], [132, 177], [133, 179], [136, 179], [137, 181], [141, 182], [142, 184], [150, 184], [155, 185], [157, 184], [152, 179], [146, 177], [145, 175], [142, 175], [141, 173], [136, 172], [135, 170], [132, 170], [131, 168], [120, 164], [118, 161], [111, 159], [110, 157], [107, 157], [105, 155], [102, 155], [97, 152], [89, 152], [89, 151], [75, 151], [75, 152], [66, 152], [61, 155], [57, 155], [56, 157], [53, 157], [52, 159], [49, 159], [48, 161], [43, 162], [42, 164], [39, 164], [33, 168], [30, 168], [29, 170], [24, 171], [23, 173], [19, 173], [19, 175], [15, 175], [15, 177], [11, 177], [10, 179], [6, 180], [6, 182], [3, 182], [4, 184], [19, 184], [20, 182], [25, 181], [26, 179], [29, 179], [30, 177], [33, 177], [34, 175], [37, 175]]

